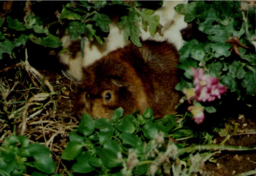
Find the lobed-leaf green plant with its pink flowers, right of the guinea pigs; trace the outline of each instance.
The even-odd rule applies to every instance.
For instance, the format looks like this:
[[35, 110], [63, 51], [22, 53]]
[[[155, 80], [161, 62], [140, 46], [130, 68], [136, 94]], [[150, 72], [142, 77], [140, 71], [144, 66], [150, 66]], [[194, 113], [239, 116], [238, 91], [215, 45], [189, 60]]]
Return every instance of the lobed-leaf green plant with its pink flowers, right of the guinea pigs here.
[[226, 96], [235, 93], [238, 102], [255, 105], [255, 7], [254, 2], [241, 1], [194, 1], [175, 7], [197, 28], [180, 49], [177, 67], [185, 72], [176, 90], [186, 95], [181, 102], [192, 104], [188, 110], [198, 124], [204, 110], [216, 112], [221, 100], [212, 101], [220, 99], [226, 88]]

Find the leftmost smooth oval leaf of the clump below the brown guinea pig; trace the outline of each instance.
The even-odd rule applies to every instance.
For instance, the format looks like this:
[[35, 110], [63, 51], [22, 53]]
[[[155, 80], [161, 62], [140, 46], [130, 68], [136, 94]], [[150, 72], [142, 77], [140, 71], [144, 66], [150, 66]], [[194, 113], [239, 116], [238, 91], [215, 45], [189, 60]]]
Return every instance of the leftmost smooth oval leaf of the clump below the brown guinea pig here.
[[61, 155], [62, 159], [74, 160], [81, 152], [82, 147], [83, 147], [83, 144], [76, 141], [70, 141], [66, 146], [65, 150], [62, 152], [62, 155]]

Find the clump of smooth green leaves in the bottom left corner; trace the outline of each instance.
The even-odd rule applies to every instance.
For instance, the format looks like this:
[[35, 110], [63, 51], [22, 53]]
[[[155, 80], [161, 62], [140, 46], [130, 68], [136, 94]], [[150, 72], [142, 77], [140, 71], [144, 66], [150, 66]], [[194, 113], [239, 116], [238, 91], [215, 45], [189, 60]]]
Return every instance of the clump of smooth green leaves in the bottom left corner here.
[[55, 170], [55, 163], [45, 146], [31, 144], [28, 138], [21, 135], [7, 138], [0, 147], [0, 174], [22, 176], [28, 166], [45, 175], [53, 174]]

